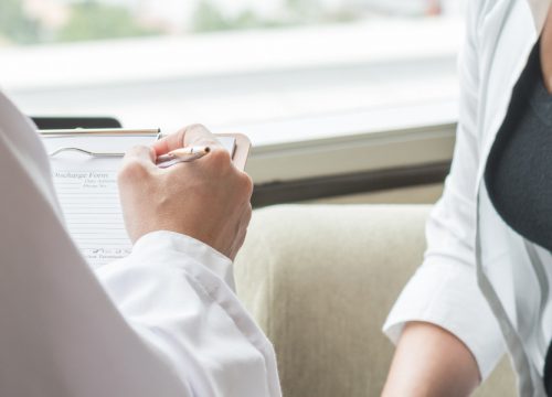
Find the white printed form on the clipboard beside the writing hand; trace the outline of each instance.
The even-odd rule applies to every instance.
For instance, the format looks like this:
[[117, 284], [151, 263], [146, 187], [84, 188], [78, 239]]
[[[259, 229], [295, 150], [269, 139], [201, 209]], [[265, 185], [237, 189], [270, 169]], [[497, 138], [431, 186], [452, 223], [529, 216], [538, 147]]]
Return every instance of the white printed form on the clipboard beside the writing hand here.
[[[43, 138], [49, 153], [61, 148], [91, 152], [126, 152], [151, 144], [152, 136], [63, 136]], [[233, 152], [233, 137], [217, 137]], [[123, 219], [117, 187], [120, 157], [88, 157], [62, 151], [51, 157], [54, 186], [67, 229], [93, 268], [120, 259], [132, 249]]]

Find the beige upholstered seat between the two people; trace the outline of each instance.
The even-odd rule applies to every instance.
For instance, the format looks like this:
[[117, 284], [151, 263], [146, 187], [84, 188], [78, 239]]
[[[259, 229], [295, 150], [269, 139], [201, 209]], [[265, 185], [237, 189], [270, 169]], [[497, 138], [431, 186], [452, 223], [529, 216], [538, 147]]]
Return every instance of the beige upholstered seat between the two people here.
[[[381, 326], [422, 261], [425, 205], [286, 205], [254, 212], [240, 297], [273, 341], [285, 397], [379, 396]], [[505, 358], [478, 396], [514, 396]]]

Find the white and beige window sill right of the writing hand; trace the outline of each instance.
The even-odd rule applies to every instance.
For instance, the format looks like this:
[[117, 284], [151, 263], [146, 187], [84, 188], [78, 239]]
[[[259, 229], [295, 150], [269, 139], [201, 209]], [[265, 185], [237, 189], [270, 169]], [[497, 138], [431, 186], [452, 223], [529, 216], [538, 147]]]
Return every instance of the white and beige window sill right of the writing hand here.
[[456, 120], [449, 100], [232, 130], [252, 138], [247, 172], [262, 184], [448, 162]]

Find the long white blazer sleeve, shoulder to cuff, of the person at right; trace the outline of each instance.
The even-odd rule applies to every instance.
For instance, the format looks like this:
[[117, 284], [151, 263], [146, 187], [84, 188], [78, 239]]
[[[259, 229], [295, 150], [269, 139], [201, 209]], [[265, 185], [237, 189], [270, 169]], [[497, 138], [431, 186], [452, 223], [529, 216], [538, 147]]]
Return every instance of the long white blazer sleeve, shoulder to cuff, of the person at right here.
[[426, 225], [423, 265], [383, 326], [396, 343], [410, 321], [429, 322], [456, 335], [474, 354], [485, 379], [505, 352], [502, 336], [476, 278], [476, 180], [480, 162], [478, 24], [484, 1], [468, 2], [467, 37], [459, 57], [460, 109], [450, 174]]

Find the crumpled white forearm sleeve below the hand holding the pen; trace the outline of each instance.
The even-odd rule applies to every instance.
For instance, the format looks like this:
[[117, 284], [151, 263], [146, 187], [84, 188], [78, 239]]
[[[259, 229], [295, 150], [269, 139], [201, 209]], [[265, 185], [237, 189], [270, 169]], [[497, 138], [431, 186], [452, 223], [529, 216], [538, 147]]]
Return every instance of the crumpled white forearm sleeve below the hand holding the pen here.
[[272, 344], [237, 300], [232, 262], [171, 232], [97, 270], [120, 312], [198, 396], [279, 396]]

